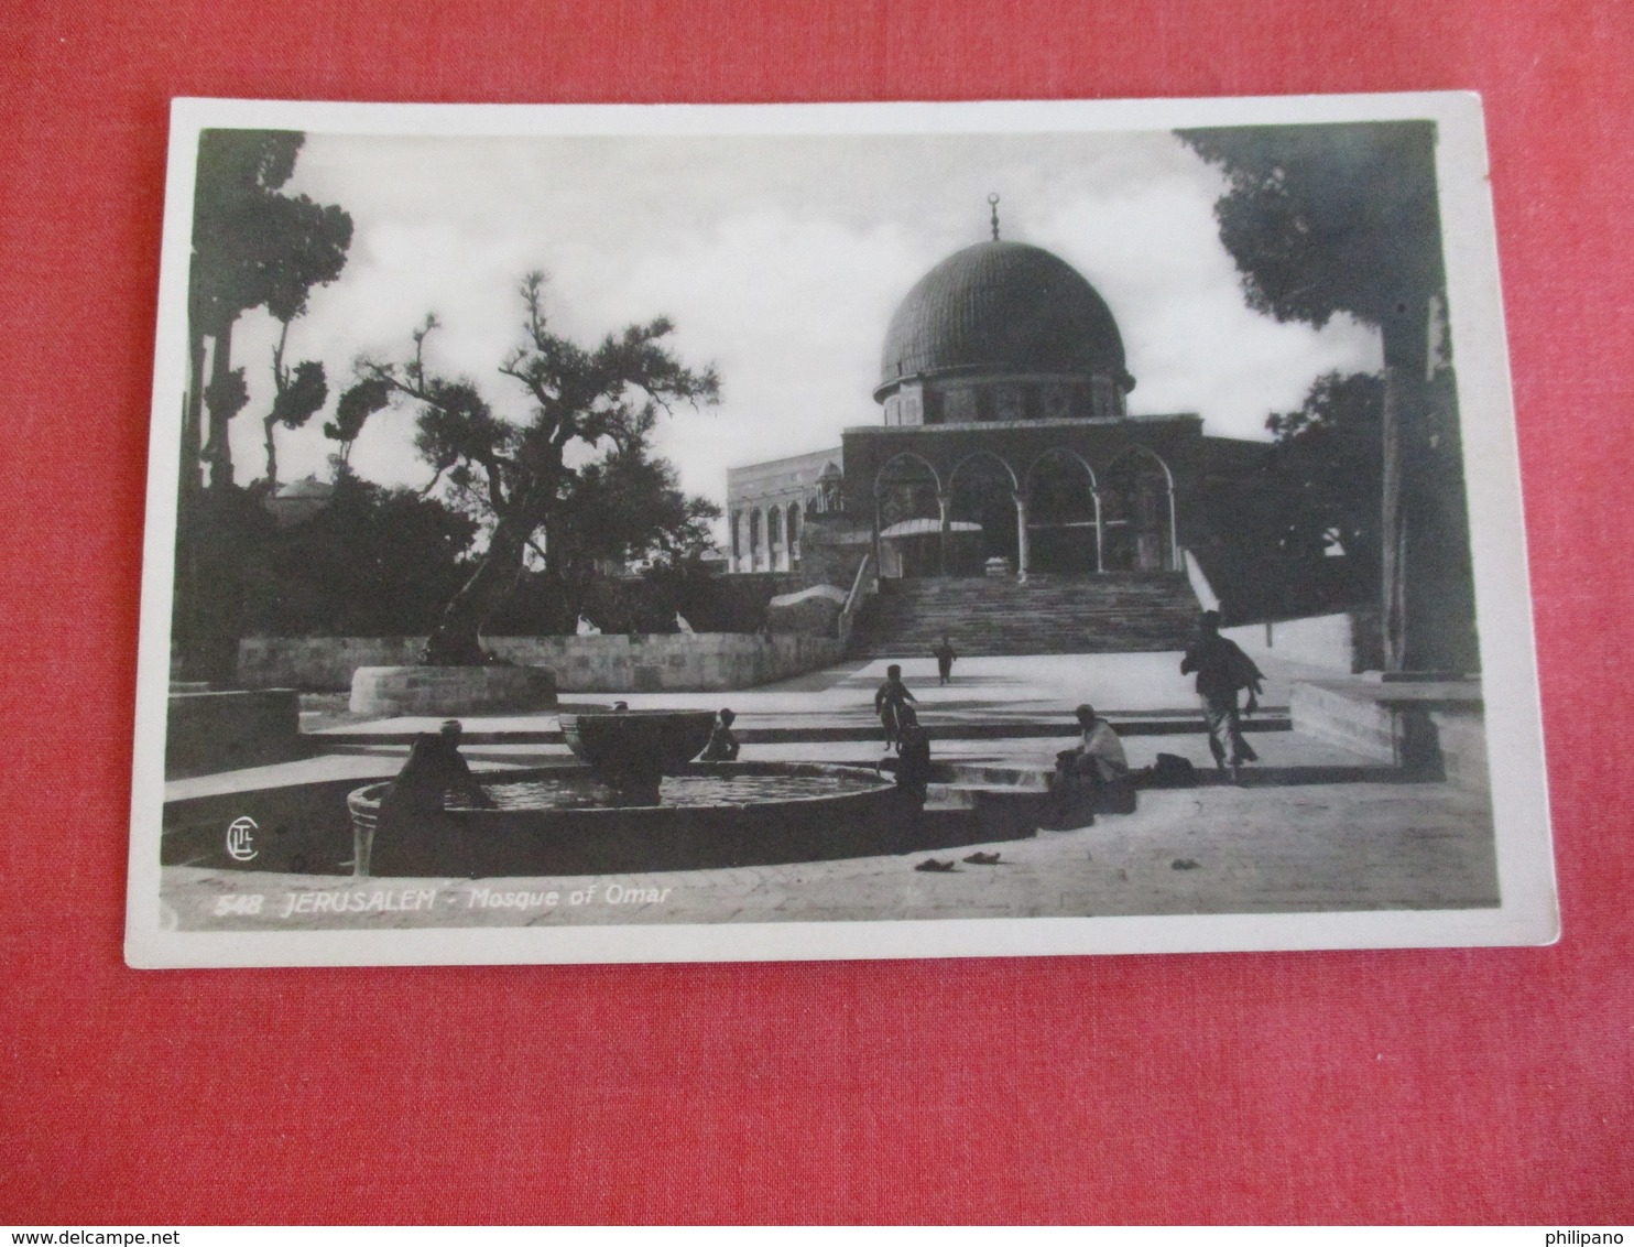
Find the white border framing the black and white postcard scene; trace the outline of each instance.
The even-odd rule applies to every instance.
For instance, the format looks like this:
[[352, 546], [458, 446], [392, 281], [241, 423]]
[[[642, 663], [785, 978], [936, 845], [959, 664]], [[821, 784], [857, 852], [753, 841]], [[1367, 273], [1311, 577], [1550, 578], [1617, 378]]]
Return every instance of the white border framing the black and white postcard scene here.
[[[160, 824], [170, 672], [186, 257], [199, 129], [348, 134], [889, 134], [1160, 131], [1433, 119], [1484, 667], [1502, 905], [1083, 918], [946, 918], [554, 928], [175, 932]], [[176, 100], [149, 440], [126, 958], [136, 968], [763, 961], [1539, 945], [1559, 936], [1520, 459], [1480, 101], [1469, 93], [887, 105], [366, 105]]]

